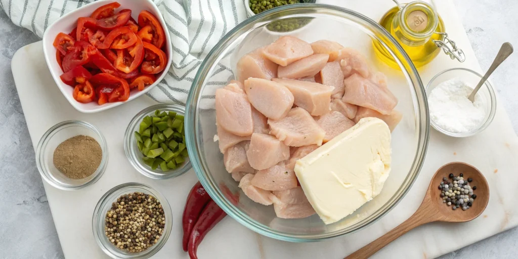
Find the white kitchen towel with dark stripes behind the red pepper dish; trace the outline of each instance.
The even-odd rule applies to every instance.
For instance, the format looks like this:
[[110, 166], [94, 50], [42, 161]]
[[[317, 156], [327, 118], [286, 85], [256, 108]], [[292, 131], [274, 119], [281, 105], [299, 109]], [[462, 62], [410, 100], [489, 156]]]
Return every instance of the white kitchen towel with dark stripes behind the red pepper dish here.
[[[0, 0], [11, 21], [39, 37], [65, 13], [95, 0]], [[114, 0], [116, 1], [116, 0]], [[138, 1], [138, 0], [135, 0]], [[247, 18], [243, 0], [164, 0], [159, 9], [172, 41], [172, 66], [148, 95], [157, 102], [185, 105], [191, 83], [203, 59], [215, 44]], [[222, 85], [233, 76], [229, 64], [220, 62], [209, 85]], [[213, 95], [203, 96], [214, 98]]]

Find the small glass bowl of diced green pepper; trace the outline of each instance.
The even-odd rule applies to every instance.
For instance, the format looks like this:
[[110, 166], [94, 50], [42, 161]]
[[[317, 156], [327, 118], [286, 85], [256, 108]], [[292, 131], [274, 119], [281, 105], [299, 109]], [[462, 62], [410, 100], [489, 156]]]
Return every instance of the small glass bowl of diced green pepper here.
[[185, 147], [184, 113], [183, 106], [157, 104], [131, 120], [124, 135], [124, 150], [142, 175], [167, 179], [191, 169]]

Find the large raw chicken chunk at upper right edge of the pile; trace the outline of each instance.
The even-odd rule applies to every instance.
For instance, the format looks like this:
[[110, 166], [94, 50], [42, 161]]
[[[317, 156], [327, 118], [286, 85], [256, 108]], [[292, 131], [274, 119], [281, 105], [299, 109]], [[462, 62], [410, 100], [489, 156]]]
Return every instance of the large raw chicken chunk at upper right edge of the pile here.
[[343, 102], [367, 107], [382, 114], [390, 114], [397, 105], [397, 98], [389, 89], [379, 87], [376, 83], [354, 74], [345, 80], [346, 93]]

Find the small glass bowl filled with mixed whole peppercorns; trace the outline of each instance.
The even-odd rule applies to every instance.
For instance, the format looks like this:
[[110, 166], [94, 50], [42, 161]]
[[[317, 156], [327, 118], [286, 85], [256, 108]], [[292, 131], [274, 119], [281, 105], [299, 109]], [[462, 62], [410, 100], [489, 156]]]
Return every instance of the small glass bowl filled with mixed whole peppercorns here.
[[164, 246], [172, 228], [167, 199], [141, 183], [128, 182], [100, 198], [92, 217], [97, 244], [112, 258], [149, 258]]

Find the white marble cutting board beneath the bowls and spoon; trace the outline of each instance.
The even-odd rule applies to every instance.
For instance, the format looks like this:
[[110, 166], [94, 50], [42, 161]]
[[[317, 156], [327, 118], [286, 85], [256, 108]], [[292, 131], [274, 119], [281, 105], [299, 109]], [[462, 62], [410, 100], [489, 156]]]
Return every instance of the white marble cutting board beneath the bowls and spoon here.
[[[465, 51], [467, 60], [460, 64], [440, 55], [433, 63], [421, 69], [423, 83], [426, 84], [436, 73], [449, 67], [480, 70], [453, 3], [447, 0], [433, 2], [444, 19], [448, 33]], [[384, 5], [376, 5], [374, 9], [373, 5], [360, 4], [365, 1], [327, 0], [319, 3], [347, 5], [374, 19], [392, 6], [389, 0], [384, 1]], [[154, 101], [142, 96], [131, 104], [103, 112], [102, 117], [99, 116], [101, 113], [79, 113], [56, 88], [44, 61], [41, 42], [27, 45], [15, 54], [12, 73], [34, 147], [49, 127], [70, 119], [96, 125], [108, 139], [109, 163], [105, 175], [97, 183], [75, 192], [60, 191], [44, 183], [65, 257], [108, 258], [93, 238], [93, 209], [98, 199], [113, 186], [137, 181], [162, 192], [171, 204], [174, 215], [171, 236], [154, 258], [188, 258], [180, 246], [180, 220], [185, 197], [196, 181], [194, 172], [190, 171], [176, 179], [151, 180], [133, 169], [123, 150], [122, 136], [126, 125], [134, 114], [153, 105]], [[517, 158], [518, 138], [505, 110], [499, 106], [493, 124], [477, 136], [455, 139], [432, 130], [423, 170], [411, 190], [385, 217], [361, 231], [323, 242], [289, 243], [262, 237], [227, 217], [207, 235], [199, 247], [198, 255], [199, 258], [343, 258], [406, 220], [421, 203], [428, 182], [439, 166], [451, 161], [470, 163], [484, 173], [491, 188], [490, 202], [481, 217], [469, 223], [433, 223], [416, 228], [373, 256], [436, 257], [518, 224], [518, 211], [513, 204], [518, 194], [515, 187], [518, 175], [514, 173], [518, 168]]]

